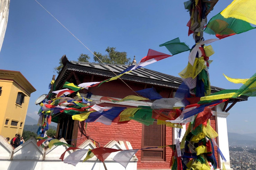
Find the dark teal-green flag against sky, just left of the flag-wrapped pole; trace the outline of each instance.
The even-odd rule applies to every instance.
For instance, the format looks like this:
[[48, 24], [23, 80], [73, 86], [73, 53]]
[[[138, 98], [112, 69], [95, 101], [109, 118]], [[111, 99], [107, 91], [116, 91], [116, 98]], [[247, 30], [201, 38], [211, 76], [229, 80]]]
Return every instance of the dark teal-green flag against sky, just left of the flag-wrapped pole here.
[[167, 41], [166, 43], [159, 45], [159, 47], [162, 46], [165, 46], [172, 55], [190, 50], [190, 48], [185, 43], [180, 43], [179, 38], [175, 38], [171, 41]]

